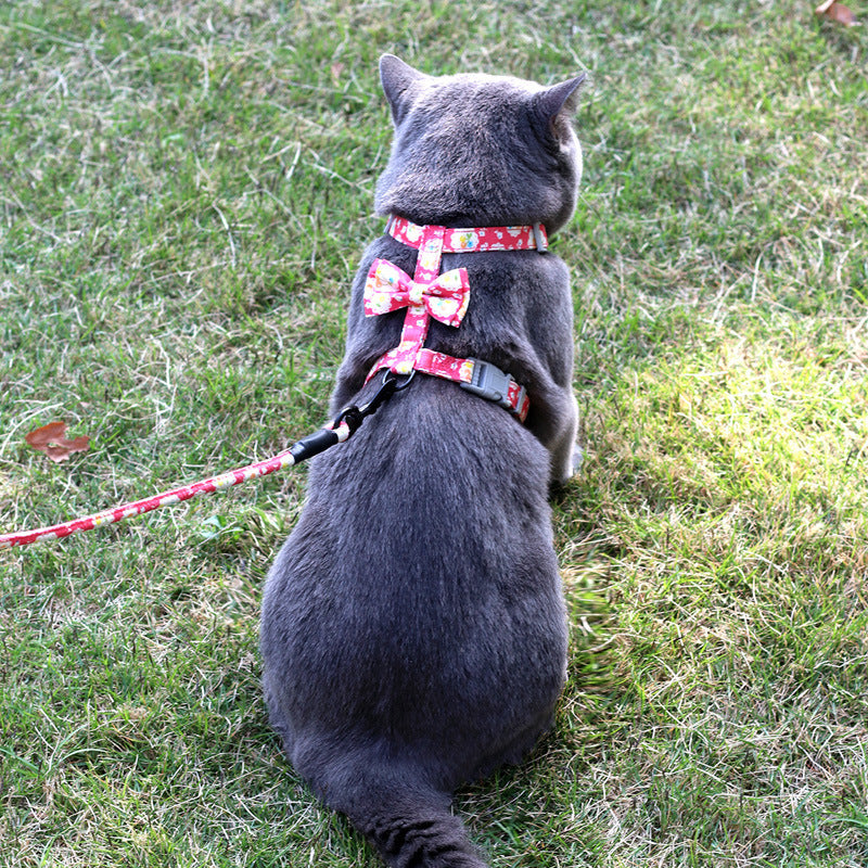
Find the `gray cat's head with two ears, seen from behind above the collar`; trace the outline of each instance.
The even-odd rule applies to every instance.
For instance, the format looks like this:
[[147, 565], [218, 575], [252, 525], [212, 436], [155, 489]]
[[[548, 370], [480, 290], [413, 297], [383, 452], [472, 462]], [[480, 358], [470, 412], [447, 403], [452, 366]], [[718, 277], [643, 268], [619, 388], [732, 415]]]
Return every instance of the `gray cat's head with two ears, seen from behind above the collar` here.
[[438, 226], [541, 222], [575, 208], [582, 149], [571, 125], [585, 76], [542, 87], [508, 76], [429, 76], [391, 54], [380, 77], [395, 139], [376, 209]]

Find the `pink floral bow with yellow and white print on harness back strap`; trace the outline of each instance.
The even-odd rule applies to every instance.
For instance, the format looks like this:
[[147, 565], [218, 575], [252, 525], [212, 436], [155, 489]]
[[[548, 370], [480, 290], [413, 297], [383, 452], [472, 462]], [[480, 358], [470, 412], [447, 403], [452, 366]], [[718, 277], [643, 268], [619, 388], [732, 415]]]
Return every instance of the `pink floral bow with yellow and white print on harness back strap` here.
[[387, 259], [374, 259], [365, 284], [365, 316], [375, 317], [401, 307], [422, 307], [429, 316], [458, 327], [470, 302], [465, 268], [454, 268], [427, 283], [417, 283]]

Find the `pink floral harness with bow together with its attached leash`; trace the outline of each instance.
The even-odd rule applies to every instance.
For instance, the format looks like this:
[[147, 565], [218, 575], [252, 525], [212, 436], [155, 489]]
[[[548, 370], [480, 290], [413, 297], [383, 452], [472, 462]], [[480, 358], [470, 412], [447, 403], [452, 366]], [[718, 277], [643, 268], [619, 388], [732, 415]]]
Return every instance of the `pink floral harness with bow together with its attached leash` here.
[[[124, 503], [82, 519], [40, 527], [0, 534], [0, 549], [28, 546], [48, 539], [62, 539], [82, 531], [114, 524], [133, 515], [143, 515], [161, 507], [180, 503], [196, 495], [210, 494], [248, 480], [266, 476], [297, 464], [318, 452], [344, 443], [366, 417], [396, 392], [409, 384], [414, 371], [458, 382], [463, 388], [487, 400], [498, 403], [522, 422], [527, 416], [529, 400], [523, 386], [490, 362], [480, 359], [458, 359], [435, 353], [423, 346], [432, 318], [457, 328], [468, 309], [470, 285], [464, 268], [439, 273], [444, 253], [478, 253], [485, 251], [537, 250], [548, 245], [546, 230], [540, 225], [518, 227], [485, 227], [481, 229], [448, 229], [443, 226], [417, 226], [401, 217], [393, 217], [386, 231], [403, 244], [416, 247], [419, 256], [416, 272], [410, 278], [386, 259], [375, 259], [365, 286], [365, 314], [378, 316], [406, 307], [400, 343], [384, 354], [368, 374], [386, 369], [383, 383], [370, 401], [361, 407], [347, 407], [327, 427], [293, 444], [289, 449], [238, 470], [207, 480], [182, 485], [152, 497]], [[399, 378], [404, 375], [401, 381]], [[368, 382], [366, 380], [366, 382]]]

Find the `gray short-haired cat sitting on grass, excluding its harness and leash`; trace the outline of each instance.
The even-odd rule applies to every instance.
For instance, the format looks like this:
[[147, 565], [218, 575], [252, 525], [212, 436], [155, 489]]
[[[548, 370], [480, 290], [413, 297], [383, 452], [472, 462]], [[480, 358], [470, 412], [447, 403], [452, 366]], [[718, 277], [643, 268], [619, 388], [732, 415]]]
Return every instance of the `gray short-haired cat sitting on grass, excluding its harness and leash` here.
[[[380, 75], [395, 141], [379, 213], [418, 227], [566, 222], [583, 77], [433, 77], [391, 55]], [[382, 380], [366, 376], [400, 340], [405, 311], [365, 316], [372, 263], [412, 275], [417, 255], [384, 234], [362, 256], [334, 412], [370, 399]], [[566, 666], [548, 490], [572, 474], [576, 436], [567, 269], [537, 250], [444, 253], [443, 272], [456, 268], [464, 319], [432, 321], [424, 345], [511, 374], [526, 422], [417, 373], [312, 461], [263, 602], [266, 701], [290, 761], [403, 868], [485, 868], [452, 792], [529, 750]]]

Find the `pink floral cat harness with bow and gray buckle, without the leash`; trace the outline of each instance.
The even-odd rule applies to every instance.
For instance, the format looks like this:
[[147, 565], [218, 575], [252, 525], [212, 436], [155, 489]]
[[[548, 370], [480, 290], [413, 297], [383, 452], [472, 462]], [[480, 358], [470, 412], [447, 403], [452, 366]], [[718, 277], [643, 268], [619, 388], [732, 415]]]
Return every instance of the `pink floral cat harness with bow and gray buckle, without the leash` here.
[[[381, 356], [368, 374], [387, 368], [396, 374], [413, 371], [454, 380], [462, 388], [496, 401], [524, 422], [529, 400], [524, 386], [488, 361], [459, 359], [424, 346], [432, 317], [458, 328], [470, 303], [465, 268], [441, 273], [444, 253], [527, 251], [544, 253], [548, 246], [546, 229], [534, 226], [497, 226], [476, 229], [449, 229], [445, 226], [417, 226], [392, 216], [386, 232], [396, 241], [419, 251], [412, 278], [387, 259], [374, 259], [365, 284], [365, 315], [368, 317], [407, 308], [400, 343]], [[367, 381], [366, 381], [367, 382]]]

